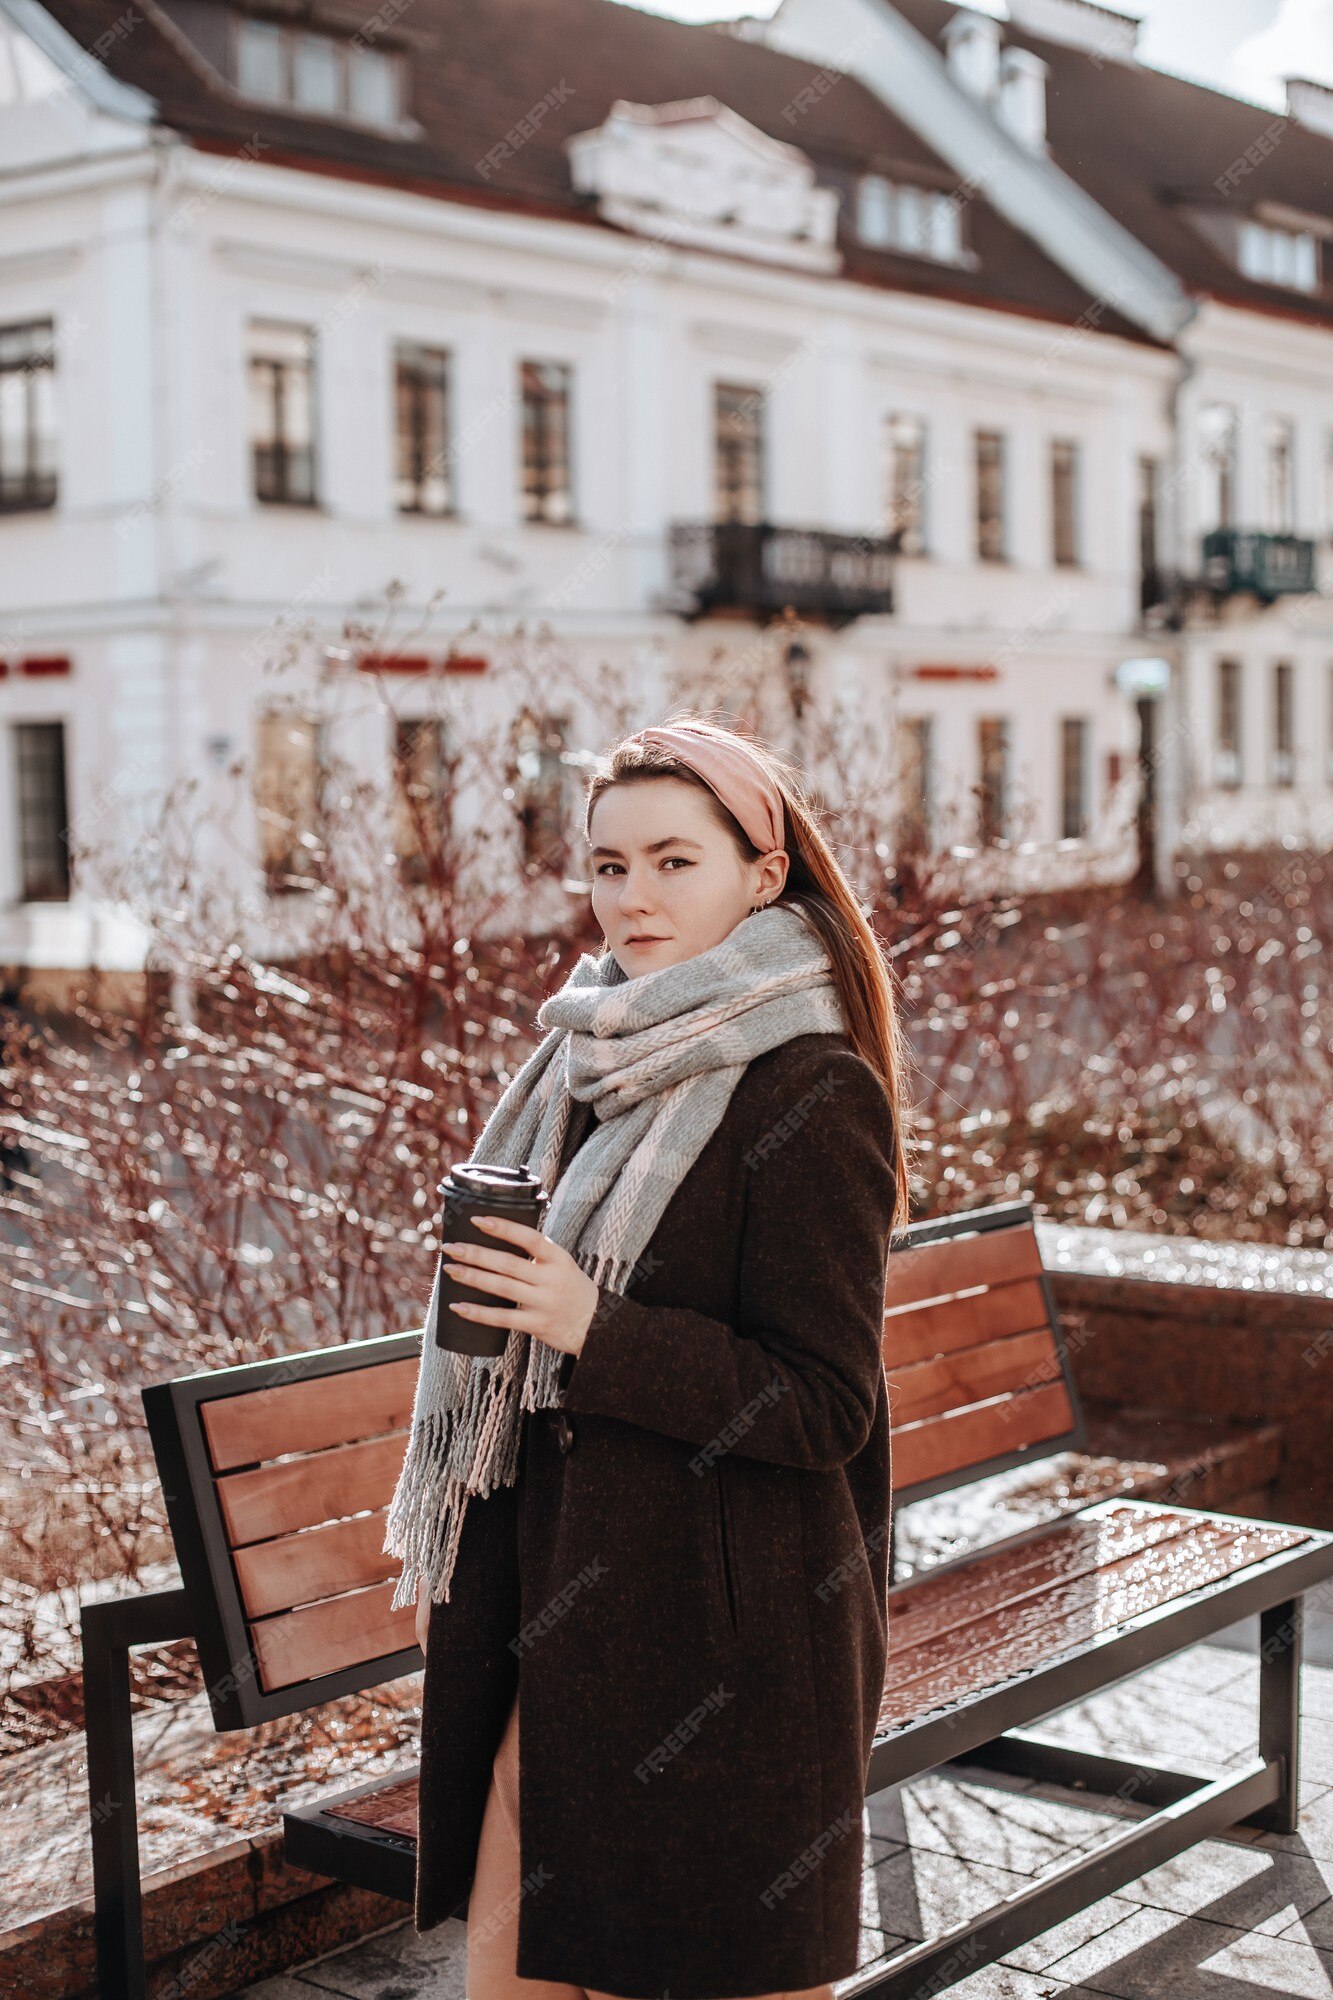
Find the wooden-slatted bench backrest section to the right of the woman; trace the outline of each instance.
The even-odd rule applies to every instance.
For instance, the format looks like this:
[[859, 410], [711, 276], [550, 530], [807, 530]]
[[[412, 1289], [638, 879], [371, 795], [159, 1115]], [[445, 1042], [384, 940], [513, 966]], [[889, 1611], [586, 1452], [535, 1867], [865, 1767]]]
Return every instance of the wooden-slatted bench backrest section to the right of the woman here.
[[1031, 1202], [915, 1222], [885, 1284], [897, 1500], [1083, 1446]]

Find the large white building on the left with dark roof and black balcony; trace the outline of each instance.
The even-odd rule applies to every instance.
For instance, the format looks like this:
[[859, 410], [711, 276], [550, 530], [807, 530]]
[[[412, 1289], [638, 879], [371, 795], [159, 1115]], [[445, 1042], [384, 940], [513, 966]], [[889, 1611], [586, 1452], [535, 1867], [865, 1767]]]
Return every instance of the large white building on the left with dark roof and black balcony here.
[[[1273, 436], [1281, 340], [1293, 418], [1325, 422], [1327, 332], [1197, 310], [1055, 168], [1043, 86], [1069, 50], [911, 12], [939, 20], [787, 0], [773, 32], [821, 44], [789, 54], [612, 0], [386, 0], [356, 30], [258, 0], [136, 0], [112, 26], [0, 0], [0, 964], [132, 964], [124, 920], [68, 892], [66, 828], [96, 838], [234, 756], [260, 774], [238, 864], [280, 870], [264, 808], [300, 820], [320, 722], [386, 780], [428, 764], [420, 666], [452, 652], [484, 712], [516, 620], [622, 666], [648, 718], [793, 606], [795, 650], [763, 644], [883, 732], [905, 826], [1025, 848], [1027, 878], [1127, 868], [1115, 670], [1165, 652], [1209, 838], [1203, 808], [1237, 806], [1199, 766], [1217, 634], [1299, 652], [1303, 702], [1321, 600], [1143, 630], [1141, 570], [1187, 602], [1215, 460], [1193, 482], [1181, 440], [1217, 424], [1227, 368]], [[1267, 366], [1241, 360], [1251, 320]], [[304, 720], [266, 720], [284, 624], [332, 644], [390, 578], [392, 700], [348, 698], [352, 658]], [[1229, 686], [1259, 716], [1259, 672]], [[564, 726], [598, 740], [596, 716]]]

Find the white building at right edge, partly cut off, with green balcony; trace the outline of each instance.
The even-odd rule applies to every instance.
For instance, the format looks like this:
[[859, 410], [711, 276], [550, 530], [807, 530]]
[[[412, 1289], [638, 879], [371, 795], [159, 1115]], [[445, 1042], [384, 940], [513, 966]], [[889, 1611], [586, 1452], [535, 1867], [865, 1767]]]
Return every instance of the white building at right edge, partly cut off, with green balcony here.
[[[875, 88], [1017, 228], [1177, 350], [1139, 468], [1161, 772], [1183, 846], [1333, 840], [1333, 92], [1275, 114], [1135, 60], [1093, 0], [783, 0], [771, 36]], [[1323, 594], [1321, 586], [1323, 584]]]

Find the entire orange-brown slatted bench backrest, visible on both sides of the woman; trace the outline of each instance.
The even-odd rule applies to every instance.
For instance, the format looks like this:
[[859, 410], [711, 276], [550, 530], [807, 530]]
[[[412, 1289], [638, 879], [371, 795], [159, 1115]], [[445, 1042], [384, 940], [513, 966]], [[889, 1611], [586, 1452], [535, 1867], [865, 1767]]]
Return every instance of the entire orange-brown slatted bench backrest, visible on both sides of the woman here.
[[[142, 1392], [218, 1728], [420, 1668], [382, 1550], [418, 1360], [388, 1334]], [[1031, 1202], [899, 1238], [885, 1374], [897, 1500], [1083, 1444]]]

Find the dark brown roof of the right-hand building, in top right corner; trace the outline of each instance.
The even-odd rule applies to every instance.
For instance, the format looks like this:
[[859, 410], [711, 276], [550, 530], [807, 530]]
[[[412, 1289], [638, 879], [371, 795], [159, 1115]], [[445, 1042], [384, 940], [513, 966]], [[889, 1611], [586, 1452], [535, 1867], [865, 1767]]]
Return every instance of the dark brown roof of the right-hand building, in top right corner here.
[[[937, 42], [959, 12], [951, 0], [893, 0]], [[1333, 138], [1139, 62], [1067, 48], [1013, 22], [1005, 44], [1049, 64], [1047, 136], [1051, 158], [1107, 214], [1153, 250], [1191, 292], [1283, 318], [1333, 322], [1333, 288], [1321, 294], [1257, 284], [1189, 218], [1189, 208], [1249, 214], [1277, 202], [1333, 222]], [[1255, 148], [1253, 164], [1245, 154]], [[1233, 182], [1217, 188], [1241, 162]], [[1249, 168], [1249, 170], [1247, 170]], [[1325, 260], [1327, 264], [1327, 260]]]

